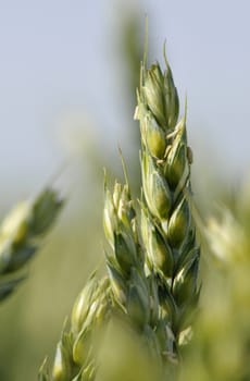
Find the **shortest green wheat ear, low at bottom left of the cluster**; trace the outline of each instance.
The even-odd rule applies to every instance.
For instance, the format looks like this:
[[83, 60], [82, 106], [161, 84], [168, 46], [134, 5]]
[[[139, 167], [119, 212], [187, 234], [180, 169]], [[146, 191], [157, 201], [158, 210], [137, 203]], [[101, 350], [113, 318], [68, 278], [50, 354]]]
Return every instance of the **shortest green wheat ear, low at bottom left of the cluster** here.
[[96, 377], [95, 337], [110, 312], [110, 285], [108, 278], [98, 280], [96, 272], [75, 300], [70, 329], [67, 322], [58, 343], [52, 374], [43, 361], [39, 381], [92, 381]]

